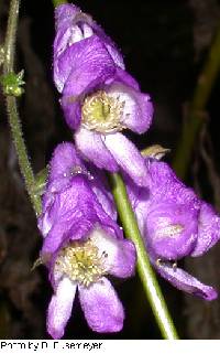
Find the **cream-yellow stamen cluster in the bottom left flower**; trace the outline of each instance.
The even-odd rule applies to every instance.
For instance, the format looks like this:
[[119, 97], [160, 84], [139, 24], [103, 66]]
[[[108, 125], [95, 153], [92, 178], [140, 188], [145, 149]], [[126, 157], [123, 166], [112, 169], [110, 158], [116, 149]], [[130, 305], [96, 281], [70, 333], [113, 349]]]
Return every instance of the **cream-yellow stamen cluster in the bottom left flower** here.
[[84, 243], [72, 242], [58, 255], [55, 271], [63, 272], [70, 280], [89, 287], [106, 273], [107, 256], [106, 253], [99, 255], [99, 249], [91, 239]]

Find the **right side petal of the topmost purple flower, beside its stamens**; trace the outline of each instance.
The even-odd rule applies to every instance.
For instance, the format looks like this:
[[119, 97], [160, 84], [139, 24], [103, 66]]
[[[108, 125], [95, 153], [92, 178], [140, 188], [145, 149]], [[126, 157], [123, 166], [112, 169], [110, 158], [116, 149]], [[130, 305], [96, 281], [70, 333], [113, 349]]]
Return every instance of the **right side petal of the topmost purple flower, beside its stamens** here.
[[114, 83], [107, 89], [109, 96], [124, 103], [122, 121], [129, 129], [143, 133], [152, 122], [153, 105], [150, 96], [128, 85]]

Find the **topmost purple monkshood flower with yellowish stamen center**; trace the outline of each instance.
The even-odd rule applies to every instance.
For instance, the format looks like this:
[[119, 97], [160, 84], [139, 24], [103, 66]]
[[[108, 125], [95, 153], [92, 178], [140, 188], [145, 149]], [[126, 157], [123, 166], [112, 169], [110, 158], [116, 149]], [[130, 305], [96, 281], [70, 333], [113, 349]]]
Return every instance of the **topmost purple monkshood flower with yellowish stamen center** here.
[[121, 131], [146, 131], [152, 121], [150, 96], [124, 71], [112, 41], [73, 4], [56, 8], [54, 82], [68, 126], [84, 159], [110, 172], [122, 169], [147, 183], [144, 160]]

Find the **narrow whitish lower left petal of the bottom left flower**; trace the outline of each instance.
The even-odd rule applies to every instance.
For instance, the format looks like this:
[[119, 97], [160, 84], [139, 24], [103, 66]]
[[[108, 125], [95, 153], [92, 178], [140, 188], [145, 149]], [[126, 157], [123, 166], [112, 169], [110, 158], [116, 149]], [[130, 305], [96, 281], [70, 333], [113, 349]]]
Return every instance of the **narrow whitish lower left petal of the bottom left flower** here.
[[65, 326], [72, 314], [76, 285], [68, 278], [63, 278], [52, 297], [47, 312], [47, 332], [54, 340], [64, 335]]

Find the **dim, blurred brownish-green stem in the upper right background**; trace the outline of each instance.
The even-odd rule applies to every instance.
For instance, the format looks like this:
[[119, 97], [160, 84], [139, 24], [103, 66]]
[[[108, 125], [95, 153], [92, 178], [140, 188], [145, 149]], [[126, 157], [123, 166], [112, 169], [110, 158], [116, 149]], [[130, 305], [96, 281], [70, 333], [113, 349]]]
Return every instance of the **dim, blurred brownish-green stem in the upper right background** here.
[[220, 28], [217, 31], [213, 43], [210, 47], [207, 61], [194, 93], [193, 100], [187, 112], [187, 120], [184, 126], [179, 143], [173, 161], [173, 167], [179, 178], [185, 178], [190, 163], [191, 151], [195, 140], [202, 126], [205, 109], [211, 90], [220, 71]]

